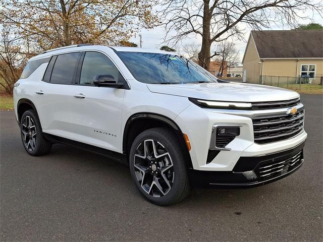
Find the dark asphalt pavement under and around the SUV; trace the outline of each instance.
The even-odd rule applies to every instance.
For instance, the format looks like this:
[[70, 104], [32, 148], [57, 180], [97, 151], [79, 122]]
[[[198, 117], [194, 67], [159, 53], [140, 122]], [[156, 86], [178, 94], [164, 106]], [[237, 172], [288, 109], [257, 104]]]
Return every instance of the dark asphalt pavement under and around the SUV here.
[[322, 241], [322, 97], [306, 107], [305, 163], [248, 190], [193, 189], [182, 203], [144, 200], [128, 167], [64, 145], [26, 154], [14, 113], [1, 112], [1, 241]]

